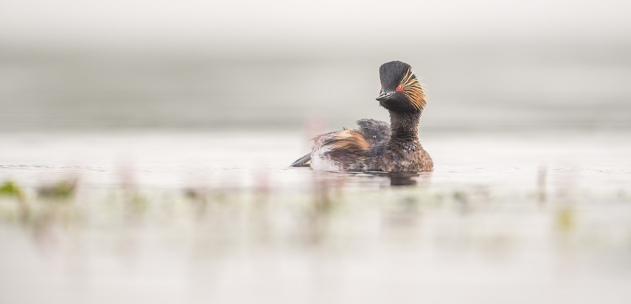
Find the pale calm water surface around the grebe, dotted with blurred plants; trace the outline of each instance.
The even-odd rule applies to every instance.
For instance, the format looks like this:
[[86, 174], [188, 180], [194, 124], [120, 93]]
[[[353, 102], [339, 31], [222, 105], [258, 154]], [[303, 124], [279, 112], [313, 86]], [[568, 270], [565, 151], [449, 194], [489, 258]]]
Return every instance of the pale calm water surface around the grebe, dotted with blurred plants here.
[[628, 303], [628, 132], [423, 134], [435, 171], [274, 132], [0, 134], [2, 303]]

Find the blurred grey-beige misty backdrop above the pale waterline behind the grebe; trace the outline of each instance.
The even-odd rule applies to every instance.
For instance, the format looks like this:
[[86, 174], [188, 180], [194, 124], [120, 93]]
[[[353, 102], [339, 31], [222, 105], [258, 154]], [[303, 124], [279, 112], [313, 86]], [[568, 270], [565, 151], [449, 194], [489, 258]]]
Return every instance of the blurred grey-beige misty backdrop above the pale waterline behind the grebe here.
[[0, 2], [0, 131], [304, 129], [387, 120], [378, 67], [429, 96], [422, 131], [631, 127], [627, 1]]

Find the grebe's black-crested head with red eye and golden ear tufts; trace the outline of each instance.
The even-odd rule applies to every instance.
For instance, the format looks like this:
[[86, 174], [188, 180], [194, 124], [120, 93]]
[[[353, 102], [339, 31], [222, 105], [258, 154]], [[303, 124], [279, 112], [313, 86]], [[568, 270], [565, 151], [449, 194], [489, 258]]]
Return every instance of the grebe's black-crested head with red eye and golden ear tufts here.
[[379, 67], [381, 91], [379, 105], [394, 112], [422, 112], [425, 93], [410, 64], [391, 61]]

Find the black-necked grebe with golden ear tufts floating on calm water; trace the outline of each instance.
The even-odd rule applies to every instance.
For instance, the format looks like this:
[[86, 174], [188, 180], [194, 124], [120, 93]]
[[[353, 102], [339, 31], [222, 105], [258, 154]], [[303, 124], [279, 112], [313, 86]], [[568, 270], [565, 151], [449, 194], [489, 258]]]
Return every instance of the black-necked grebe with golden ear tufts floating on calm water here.
[[432, 158], [418, 142], [418, 121], [425, 93], [410, 64], [391, 61], [379, 67], [376, 98], [390, 113], [390, 124], [357, 120], [358, 130], [344, 128], [316, 136], [311, 153], [291, 167], [309, 163], [317, 171], [432, 171]]

